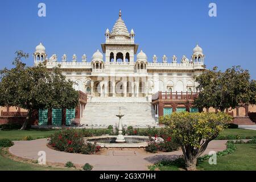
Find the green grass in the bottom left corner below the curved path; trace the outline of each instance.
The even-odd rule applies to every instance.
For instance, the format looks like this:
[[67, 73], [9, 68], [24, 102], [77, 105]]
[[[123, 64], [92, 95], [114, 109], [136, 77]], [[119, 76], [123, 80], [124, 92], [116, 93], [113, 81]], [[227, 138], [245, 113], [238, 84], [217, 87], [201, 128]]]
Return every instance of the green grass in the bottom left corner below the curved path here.
[[0, 147], [0, 171], [63, 171], [74, 170], [68, 168], [54, 168], [51, 166], [40, 166], [39, 164], [29, 164], [17, 162], [3, 156], [2, 147]]

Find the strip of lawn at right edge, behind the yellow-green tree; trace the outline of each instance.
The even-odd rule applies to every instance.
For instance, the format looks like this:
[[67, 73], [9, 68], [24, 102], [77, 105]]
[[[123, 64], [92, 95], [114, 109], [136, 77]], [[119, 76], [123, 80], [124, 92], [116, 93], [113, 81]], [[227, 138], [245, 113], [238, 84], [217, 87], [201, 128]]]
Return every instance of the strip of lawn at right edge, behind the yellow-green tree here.
[[220, 133], [222, 136], [240, 135], [241, 137], [256, 137], [256, 130], [226, 129]]

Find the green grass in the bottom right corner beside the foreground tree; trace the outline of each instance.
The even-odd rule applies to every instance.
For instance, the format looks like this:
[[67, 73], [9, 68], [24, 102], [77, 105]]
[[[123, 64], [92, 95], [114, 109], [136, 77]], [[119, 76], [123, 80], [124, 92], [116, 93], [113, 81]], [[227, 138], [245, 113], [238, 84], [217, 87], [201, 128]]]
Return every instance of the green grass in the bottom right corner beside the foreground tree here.
[[236, 144], [236, 146], [234, 153], [217, 158], [216, 165], [210, 165], [208, 160], [205, 160], [197, 168], [205, 171], [255, 171], [256, 144]]

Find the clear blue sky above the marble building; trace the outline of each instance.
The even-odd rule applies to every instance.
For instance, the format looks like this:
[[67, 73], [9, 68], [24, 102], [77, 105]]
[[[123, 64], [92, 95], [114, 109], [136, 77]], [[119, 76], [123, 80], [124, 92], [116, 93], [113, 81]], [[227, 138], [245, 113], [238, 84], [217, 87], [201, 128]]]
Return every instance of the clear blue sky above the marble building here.
[[[46, 17], [38, 16], [38, 3], [46, 3]], [[209, 3], [217, 4], [217, 17], [209, 17]], [[207, 68], [241, 65], [256, 78], [256, 1], [37, 1], [2, 0], [0, 6], [0, 69], [11, 67], [16, 50], [32, 53], [42, 42], [48, 57], [66, 53], [88, 56], [101, 50], [105, 30], [112, 27], [122, 9], [128, 30], [135, 32], [139, 50], [152, 60], [155, 54], [168, 61], [176, 55], [189, 59], [196, 43], [203, 48]]]

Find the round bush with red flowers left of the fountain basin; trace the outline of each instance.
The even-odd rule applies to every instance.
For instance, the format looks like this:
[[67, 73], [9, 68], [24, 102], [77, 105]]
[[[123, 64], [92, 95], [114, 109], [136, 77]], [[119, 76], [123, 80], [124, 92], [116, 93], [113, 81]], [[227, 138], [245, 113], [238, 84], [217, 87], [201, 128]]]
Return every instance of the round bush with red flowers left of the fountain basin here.
[[84, 138], [74, 129], [60, 130], [49, 137], [49, 144], [60, 151], [79, 153], [84, 145]]

